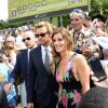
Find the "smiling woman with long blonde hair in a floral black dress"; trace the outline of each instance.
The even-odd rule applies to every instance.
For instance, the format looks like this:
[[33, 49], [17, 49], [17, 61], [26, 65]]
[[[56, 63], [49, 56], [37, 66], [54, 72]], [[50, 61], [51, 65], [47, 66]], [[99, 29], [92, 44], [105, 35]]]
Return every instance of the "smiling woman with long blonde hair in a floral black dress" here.
[[54, 75], [59, 83], [58, 108], [77, 108], [82, 94], [90, 90], [90, 67], [83, 55], [72, 52], [67, 29], [57, 28], [52, 43]]

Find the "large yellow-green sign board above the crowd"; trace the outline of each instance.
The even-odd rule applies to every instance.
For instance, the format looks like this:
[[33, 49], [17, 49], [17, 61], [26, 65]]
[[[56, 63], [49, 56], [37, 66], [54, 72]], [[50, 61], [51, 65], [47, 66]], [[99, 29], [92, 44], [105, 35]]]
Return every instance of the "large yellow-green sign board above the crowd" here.
[[9, 0], [9, 19], [87, 5], [87, 0]]

